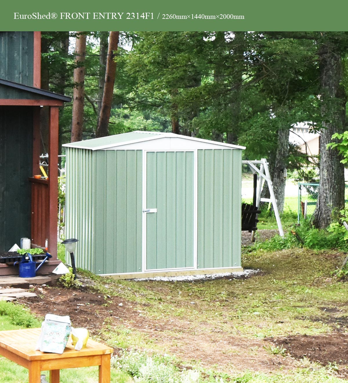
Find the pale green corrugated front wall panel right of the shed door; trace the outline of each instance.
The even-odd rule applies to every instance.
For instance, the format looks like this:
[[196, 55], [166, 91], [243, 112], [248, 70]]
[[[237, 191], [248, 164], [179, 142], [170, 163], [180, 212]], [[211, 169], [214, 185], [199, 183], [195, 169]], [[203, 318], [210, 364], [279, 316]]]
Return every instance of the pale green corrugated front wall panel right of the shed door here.
[[198, 151], [198, 268], [241, 265], [241, 150]]

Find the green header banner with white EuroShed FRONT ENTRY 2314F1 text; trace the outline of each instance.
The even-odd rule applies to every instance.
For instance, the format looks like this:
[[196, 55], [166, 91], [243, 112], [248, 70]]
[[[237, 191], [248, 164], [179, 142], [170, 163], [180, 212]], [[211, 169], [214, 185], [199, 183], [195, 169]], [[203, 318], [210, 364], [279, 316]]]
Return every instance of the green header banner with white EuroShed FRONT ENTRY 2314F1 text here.
[[209, 1], [2, 3], [3, 31], [338, 31], [348, 2]]

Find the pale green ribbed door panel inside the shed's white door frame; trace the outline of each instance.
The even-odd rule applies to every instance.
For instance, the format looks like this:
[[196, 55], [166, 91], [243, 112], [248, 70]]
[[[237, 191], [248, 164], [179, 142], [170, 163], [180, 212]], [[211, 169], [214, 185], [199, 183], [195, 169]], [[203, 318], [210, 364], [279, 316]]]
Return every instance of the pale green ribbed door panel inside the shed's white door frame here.
[[148, 152], [146, 269], [194, 267], [194, 152]]

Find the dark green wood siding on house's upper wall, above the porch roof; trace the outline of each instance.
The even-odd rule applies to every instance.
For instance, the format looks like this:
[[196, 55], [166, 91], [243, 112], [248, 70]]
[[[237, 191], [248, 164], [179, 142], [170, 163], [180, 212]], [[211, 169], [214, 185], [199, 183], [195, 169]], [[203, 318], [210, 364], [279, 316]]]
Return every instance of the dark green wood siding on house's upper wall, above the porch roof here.
[[0, 32], [0, 78], [33, 86], [34, 32]]

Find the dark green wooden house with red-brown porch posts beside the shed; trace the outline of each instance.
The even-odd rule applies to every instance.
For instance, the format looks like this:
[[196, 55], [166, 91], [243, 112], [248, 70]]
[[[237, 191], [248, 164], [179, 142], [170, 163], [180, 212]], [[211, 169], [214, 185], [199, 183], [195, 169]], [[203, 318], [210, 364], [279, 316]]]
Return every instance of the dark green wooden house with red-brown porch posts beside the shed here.
[[[41, 32], [0, 32], [0, 253], [29, 237], [57, 261], [59, 106], [71, 101], [40, 88]], [[48, 179], [40, 174], [40, 113], [49, 108]], [[0, 264], [0, 275], [18, 269]]]

